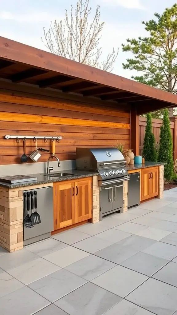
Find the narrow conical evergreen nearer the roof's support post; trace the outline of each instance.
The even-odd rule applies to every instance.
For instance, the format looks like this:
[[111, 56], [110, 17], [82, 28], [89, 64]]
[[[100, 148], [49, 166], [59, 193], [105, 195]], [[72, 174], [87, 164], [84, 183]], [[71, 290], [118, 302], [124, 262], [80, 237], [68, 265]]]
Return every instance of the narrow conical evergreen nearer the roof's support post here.
[[152, 133], [151, 113], [147, 114], [143, 155], [146, 161], [152, 161], [152, 162], [157, 161], [157, 152], [155, 150], [155, 137], [154, 137], [154, 134]]

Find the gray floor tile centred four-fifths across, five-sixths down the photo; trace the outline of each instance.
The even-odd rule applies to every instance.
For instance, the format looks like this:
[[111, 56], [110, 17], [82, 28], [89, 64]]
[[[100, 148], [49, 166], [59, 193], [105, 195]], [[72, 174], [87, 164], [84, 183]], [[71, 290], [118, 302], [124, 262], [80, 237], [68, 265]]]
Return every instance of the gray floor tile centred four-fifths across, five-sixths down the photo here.
[[139, 252], [120, 265], [150, 277], [167, 263], [168, 260]]

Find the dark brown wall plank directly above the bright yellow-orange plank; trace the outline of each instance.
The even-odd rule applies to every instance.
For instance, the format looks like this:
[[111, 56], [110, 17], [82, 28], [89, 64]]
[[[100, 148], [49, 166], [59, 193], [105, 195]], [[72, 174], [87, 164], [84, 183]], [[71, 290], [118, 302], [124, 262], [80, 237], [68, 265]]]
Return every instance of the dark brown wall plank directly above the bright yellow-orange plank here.
[[33, 115], [45, 115], [45, 116], [54, 116], [54, 117], [66, 117], [66, 118], [79, 118], [79, 119], [90, 119], [98, 121], [110, 121], [117, 123], [130, 123], [130, 117], [115, 117], [115, 116], [106, 116], [98, 115], [84, 112], [74, 112], [66, 111], [61, 109], [52, 109], [46, 107], [37, 107], [29, 105], [19, 105], [19, 104], [9, 104], [0, 102], [0, 111], [1, 112], [11, 112], [11, 113], [21, 113], [21, 114], [33, 114]]

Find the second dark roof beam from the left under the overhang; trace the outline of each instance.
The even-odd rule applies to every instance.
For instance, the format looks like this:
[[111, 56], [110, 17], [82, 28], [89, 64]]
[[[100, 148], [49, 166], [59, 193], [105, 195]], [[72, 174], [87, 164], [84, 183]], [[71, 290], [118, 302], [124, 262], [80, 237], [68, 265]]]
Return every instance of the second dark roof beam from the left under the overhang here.
[[23, 82], [24, 80], [29, 79], [31, 77], [36, 77], [47, 72], [48, 71], [43, 70], [43, 69], [30, 68], [28, 70], [21, 71], [21, 72], [11, 75], [9, 79], [14, 83], [18, 83], [18, 82]]

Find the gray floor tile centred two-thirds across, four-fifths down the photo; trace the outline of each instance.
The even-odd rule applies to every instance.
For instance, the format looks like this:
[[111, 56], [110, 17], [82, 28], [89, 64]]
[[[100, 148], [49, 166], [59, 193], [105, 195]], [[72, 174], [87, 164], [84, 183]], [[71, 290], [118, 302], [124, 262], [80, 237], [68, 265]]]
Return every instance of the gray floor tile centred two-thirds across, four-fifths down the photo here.
[[120, 264], [129, 257], [135, 255], [137, 252], [138, 250], [126, 246], [121, 246], [116, 243], [104, 249], [101, 249], [98, 252], [95, 252], [94, 255], [114, 262], [115, 264]]

